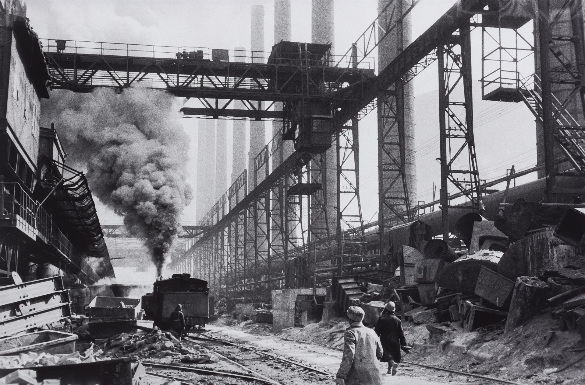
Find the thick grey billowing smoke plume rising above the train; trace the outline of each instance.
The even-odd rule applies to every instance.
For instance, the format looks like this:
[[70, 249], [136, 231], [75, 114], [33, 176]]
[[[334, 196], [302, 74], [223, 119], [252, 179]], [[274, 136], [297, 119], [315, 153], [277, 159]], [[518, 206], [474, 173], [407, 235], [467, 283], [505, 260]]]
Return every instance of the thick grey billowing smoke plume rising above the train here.
[[87, 169], [92, 192], [144, 238], [161, 275], [191, 201], [185, 182], [189, 137], [176, 99], [161, 91], [55, 91], [41, 122], [55, 124], [70, 157]]

